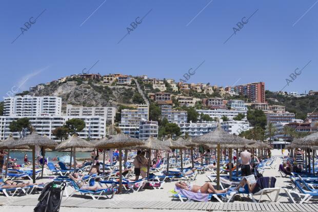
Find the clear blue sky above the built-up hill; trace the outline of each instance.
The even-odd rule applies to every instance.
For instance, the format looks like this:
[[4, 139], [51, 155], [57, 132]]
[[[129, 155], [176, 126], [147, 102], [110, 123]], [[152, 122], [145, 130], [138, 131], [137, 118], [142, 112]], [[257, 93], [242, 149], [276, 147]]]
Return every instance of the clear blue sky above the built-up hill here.
[[189, 83], [263, 81], [269, 90], [281, 90], [296, 68], [311, 61], [284, 91], [318, 89], [317, 0], [2, 1], [0, 18], [1, 97], [80, 73], [97, 61], [90, 72], [175, 80], [205, 61]]

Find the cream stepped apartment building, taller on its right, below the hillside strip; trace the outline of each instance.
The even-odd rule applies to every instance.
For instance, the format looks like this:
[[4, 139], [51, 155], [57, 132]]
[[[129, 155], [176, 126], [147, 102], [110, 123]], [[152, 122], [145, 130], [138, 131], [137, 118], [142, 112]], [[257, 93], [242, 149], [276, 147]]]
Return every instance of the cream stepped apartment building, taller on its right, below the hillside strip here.
[[138, 105], [137, 109], [123, 109], [121, 124], [136, 124], [149, 120], [149, 106]]

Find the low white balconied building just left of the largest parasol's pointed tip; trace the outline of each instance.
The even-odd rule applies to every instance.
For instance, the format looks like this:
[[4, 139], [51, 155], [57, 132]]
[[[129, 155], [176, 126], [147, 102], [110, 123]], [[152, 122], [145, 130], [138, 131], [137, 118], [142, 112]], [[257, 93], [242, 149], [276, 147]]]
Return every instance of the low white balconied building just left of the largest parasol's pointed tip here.
[[183, 136], [186, 134], [186, 132], [188, 132], [189, 136], [197, 137], [215, 129], [216, 123], [183, 123], [178, 124], [178, 126], [180, 127]]

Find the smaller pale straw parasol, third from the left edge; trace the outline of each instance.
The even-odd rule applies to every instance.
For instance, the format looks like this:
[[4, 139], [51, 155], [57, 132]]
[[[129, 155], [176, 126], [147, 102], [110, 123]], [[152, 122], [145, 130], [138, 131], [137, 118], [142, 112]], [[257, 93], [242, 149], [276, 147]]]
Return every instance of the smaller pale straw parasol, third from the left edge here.
[[62, 150], [62, 149], [69, 149], [73, 148], [74, 150], [74, 155], [73, 155], [73, 164], [74, 164], [74, 173], [76, 172], [76, 148], [90, 148], [94, 147], [91, 142], [88, 142], [84, 139], [81, 139], [77, 136], [77, 134], [73, 134], [70, 138], [67, 140], [61, 142], [58, 144], [58, 146], [55, 148], [57, 150]]

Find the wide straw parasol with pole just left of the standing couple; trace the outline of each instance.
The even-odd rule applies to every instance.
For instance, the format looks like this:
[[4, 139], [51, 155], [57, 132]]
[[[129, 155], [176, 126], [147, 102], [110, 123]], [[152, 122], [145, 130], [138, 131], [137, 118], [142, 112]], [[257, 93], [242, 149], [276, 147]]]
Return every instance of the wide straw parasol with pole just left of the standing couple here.
[[94, 146], [98, 149], [109, 149], [109, 148], [118, 148], [119, 150], [119, 162], [120, 162], [120, 188], [119, 192], [122, 192], [122, 149], [125, 147], [131, 147], [136, 145], [142, 145], [143, 142], [139, 139], [134, 139], [126, 134], [118, 133], [114, 136], [111, 136], [110, 139], [102, 139], [101, 141], [97, 142]]

